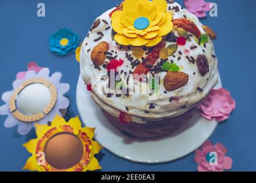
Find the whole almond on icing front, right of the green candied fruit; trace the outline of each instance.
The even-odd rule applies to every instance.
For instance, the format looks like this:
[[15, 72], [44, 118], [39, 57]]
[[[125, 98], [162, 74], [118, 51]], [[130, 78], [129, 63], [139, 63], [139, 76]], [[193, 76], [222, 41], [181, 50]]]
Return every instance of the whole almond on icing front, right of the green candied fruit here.
[[167, 92], [172, 92], [185, 86], [187, 82], [188, 74], [183, 72], [169, 71], [164, 78], [164, 87]]

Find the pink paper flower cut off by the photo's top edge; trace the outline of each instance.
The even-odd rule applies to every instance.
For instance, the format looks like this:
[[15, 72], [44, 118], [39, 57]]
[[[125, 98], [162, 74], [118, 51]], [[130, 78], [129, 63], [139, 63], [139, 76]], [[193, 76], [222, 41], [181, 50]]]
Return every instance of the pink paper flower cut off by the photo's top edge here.
[[205, 11], [211, 10], [211, 2], [205, 2], [204, 0], [184, 0], [184, 5], [188, 11], [198, 18], [206, 17]]

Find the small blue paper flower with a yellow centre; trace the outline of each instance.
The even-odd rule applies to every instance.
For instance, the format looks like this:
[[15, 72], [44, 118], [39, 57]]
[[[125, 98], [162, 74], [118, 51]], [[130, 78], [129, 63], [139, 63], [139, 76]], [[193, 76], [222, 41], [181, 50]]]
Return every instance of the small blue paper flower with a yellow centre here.
[[73, 30], [63, 28], [57, 30], [49, 38], [49, 49], [56, 55], [74, 53], [79, 43], [79, 35]]

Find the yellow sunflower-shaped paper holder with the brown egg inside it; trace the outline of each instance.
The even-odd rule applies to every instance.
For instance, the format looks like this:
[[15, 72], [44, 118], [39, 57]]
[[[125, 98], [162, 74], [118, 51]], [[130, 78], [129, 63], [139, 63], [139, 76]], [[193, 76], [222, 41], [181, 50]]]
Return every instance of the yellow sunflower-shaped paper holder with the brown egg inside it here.
[[82, 128], [79, 117], [65, 122], [56, 114], [51, 126], [36, 125], [37, 138], [24, 144], [32, 156], [23, 169], [40, 172], [86, 172], [101, 169], [94, 157], [102, 146], [92, 141], [94, 128]]

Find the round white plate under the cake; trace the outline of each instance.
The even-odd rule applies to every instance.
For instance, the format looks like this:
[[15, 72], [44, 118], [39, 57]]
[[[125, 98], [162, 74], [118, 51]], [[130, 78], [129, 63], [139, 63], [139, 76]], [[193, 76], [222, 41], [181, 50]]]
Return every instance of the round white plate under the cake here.
[[[222, 87], [220, 82], [216, 88]], [[77, 108], [83, 123], [96, 128], [95, 140], [104, 148], [126, 160], [146, 164], [169, 162], [199, 148], [214, 132], [217, 122], [207, 121], [193, 112], [193, 118], [174, 134], [154, 140], [127, 137], [116, 129], [91, 100], [90, 93], [79, 77], [76, 89]]]

